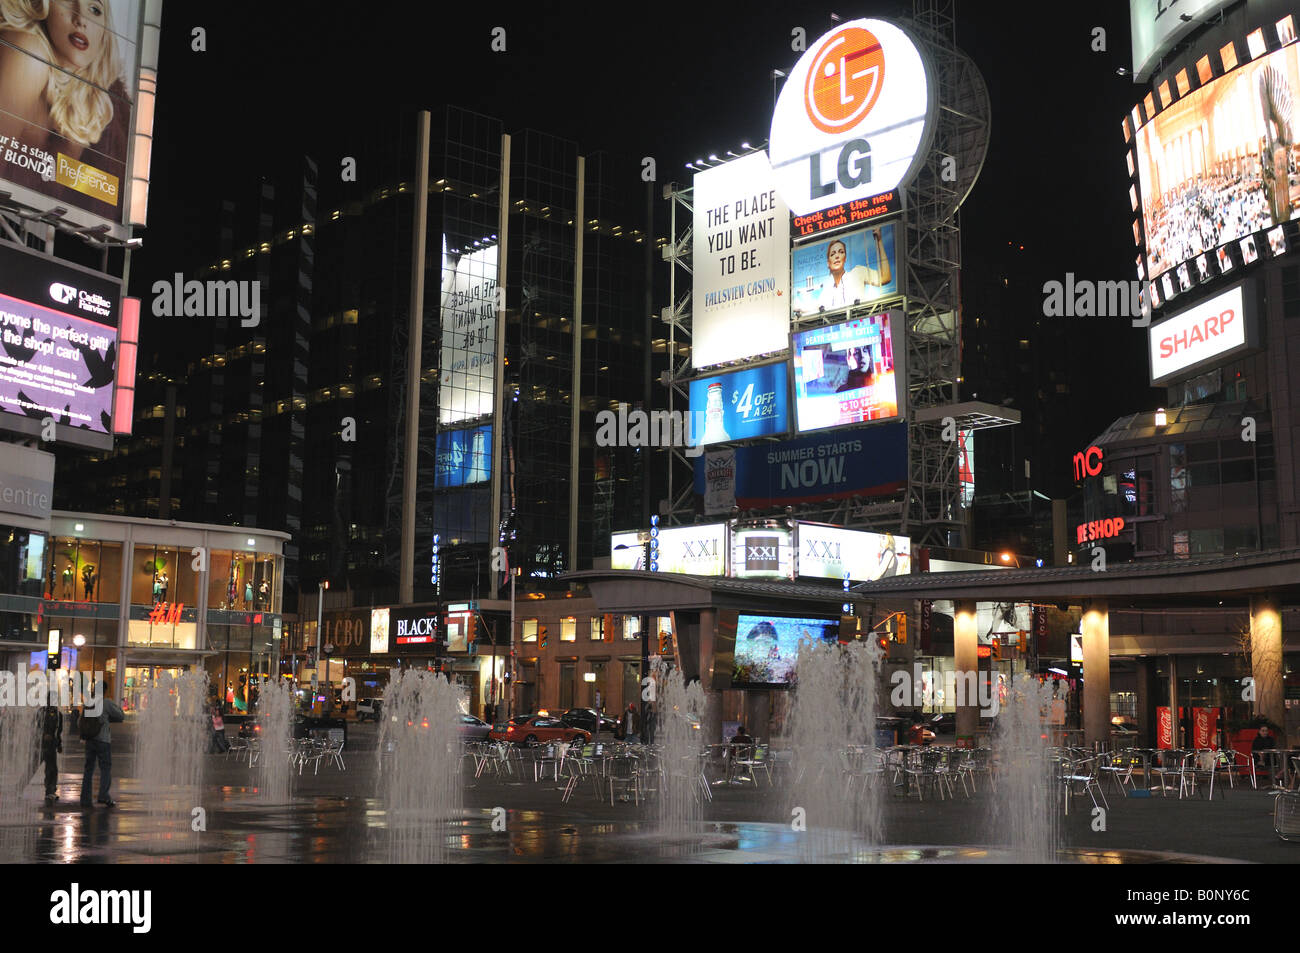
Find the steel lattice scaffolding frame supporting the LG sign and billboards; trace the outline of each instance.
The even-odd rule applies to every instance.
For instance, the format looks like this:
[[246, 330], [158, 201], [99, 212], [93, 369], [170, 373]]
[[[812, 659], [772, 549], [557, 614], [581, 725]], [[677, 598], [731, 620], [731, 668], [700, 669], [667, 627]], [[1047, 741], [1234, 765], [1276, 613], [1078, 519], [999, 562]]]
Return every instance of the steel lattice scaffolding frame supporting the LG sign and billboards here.
[[[961, 506], [958, 443], [944, 439], [953, 426], [974, 430], [1002, 426], [1010, 419], [958, 407], [961, 384], [961, 226], [957, 209], [970, 194], [988, 151], [988, 90], [975, 65], [956, 44], [953, 0], [914, 0], [909, 26], [932, 66], [935, 134], [918, 173], [904, 189], [904, 213], [896, 221], [902, 298], [871, 302], [835, 315], [857, 320], [894, 308], [906, 316], [905, 372], [907, 377], [907, 489], [894, 501], [842, 499], [772, 507], [762, 514], [789, 511], [801, 519], [859, 529], [902, 532], [916, 545], [966, 546], [967, 514]], [[690, 341], [690, 243], [693, 194], [668, 185], [671, 241], [663, 248], [670, 264], [670, 300], [662, 320], [668, 325], [668, 410], [689, 410], [689, 356], [679, 347]], [[684, 220], [679, 222], [679, 209]], [[679, 273], [680, 272], [680, 273]], [[679, 280], [684, 280], [685, 291]], [[828, 324], [820, 315], [796, 320], [792, 330]], [[766, 360], [766, 356], [758, 360]], [[744, 365], [750, 361], [734, 361]], [[719, 367], [718, 372], [724, 371]], [[941, 413], [942, 408], [952, 413]], [[918, 412], [919, 420], [918, 420]], [[945, 417], [952, 417], [952, 425]], [[668, 498], [660, 514], [670, 525], [696, 520], [694, 469], [680, 449], [668, 451]], [[680, 480], [685, 478], [685, 485]]]

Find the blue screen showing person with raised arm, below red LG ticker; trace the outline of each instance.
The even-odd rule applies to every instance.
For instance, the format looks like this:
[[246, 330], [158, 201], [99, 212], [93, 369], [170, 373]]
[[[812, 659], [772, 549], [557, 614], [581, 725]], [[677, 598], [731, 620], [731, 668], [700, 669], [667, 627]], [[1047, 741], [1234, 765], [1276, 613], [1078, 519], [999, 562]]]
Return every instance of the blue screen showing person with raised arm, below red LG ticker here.
[[842, 311], [898, 294], [894, 225], [872, 225], [790, 254], [790, 313]]

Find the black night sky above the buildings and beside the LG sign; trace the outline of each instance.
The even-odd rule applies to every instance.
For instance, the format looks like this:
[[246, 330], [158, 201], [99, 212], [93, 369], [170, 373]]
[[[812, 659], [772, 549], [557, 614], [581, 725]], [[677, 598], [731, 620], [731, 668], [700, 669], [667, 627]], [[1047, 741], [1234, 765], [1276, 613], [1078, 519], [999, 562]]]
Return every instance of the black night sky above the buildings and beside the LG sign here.
[[[958, 44], [993, 103], [983, 174], [965, 207], [967, 276], [1026, 246], [1026, 281], [1071, 270], [1134, 277], [1121, 120], [1136, 90], [1127, 4], [958, 0]], [[745, 4], [166, 4], [147, 251], [133, 289], [181, 254], [190, 212], [269, 170], [277, 155], [315, 151], [322, 172], [355, 152], [351, 125], [395, 104], [454, 103], [533, 126], [584, 151], [655, 156], [659, 179], [685, 182], [686, 160], [767, 139], [771, 69], [797, 59], [790, 31], [811, 39], [829, 14], [907, 14], [910, 3]], [[191, 30], [207, 30], [207, 51]], [[490, 49], [504, 27], [507, 51]], [[1092, 29], [1106, 30], [1093, 52]], [[1005, 264], [1005, 263], [1004, 263]], [[1008, 320], [1023, 320], [1009, 317]], [[1123, 322], [1080, 328], [1080, 363], [1122, 354], [1089, 404], [1079, 439], [1149, 402], [1143, 333]], [[1113, 338], [1113, 339], [1112, 339]], [[1136, 355], [1136, 356], [1135, 356]], [[1095, 373], [1089, 371], [1089, 373]], [[1131, 378], [1131, 382], [1130, 380]], [[984, 397], [984, 395], [982, 395]]]

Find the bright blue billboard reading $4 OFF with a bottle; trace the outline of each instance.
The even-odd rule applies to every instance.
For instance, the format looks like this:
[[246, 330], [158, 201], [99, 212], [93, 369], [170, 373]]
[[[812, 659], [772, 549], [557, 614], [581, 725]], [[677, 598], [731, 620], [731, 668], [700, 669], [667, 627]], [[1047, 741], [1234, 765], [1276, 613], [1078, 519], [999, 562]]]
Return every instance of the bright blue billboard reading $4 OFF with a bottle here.
[[694, 445], [786, 433], [790, 429], [786, 377], [783, 361], [692, 381]]

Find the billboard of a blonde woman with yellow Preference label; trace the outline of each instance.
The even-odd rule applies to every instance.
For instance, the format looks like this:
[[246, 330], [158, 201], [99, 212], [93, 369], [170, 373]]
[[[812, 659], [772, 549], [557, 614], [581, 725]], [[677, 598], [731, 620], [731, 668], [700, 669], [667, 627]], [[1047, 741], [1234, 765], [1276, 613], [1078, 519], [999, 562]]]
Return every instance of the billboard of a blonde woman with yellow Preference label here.
[[122, 221], [138, 0], [0, 3], [0, 178], [14, 198]]

